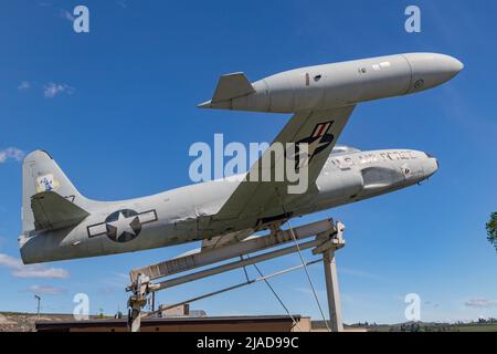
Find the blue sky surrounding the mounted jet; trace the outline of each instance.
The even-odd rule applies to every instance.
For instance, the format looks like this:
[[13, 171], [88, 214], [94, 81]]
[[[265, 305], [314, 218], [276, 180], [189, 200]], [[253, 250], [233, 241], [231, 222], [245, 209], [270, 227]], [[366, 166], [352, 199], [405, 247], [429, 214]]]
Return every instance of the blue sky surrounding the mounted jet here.
[[[75, 6], [91, 32], [76, 34]], [[408, 4], [422, 32], [404, 31]], [[223, 73], [251, 80], [287, 69], [383, 54], [433, 51], [465, 70], [421, 94], [360, 105], [340, 143], [414, 148], [441, 169], [421, 187], [294, 221], [332, 216], [347, 225], [337, 256], [347, 322], [404, 321], [404, 296], [422, 320], [497, 316], [497, 257], [485, 222], [496, 210], [497, 3], [468, 1], [3, 1], [0, 3], [0, 310], [123, 310], [124, 274], [192, 244], [34, 268], [19, 264], [20, 152], [49, 150], [82, 194], [123, 199], [190, 184], [195, 142], [268, 142], [287, 115], [198, 110]], [[6, 150], [11, 147], [11, 149]], [[19, 149], [19, 150], [18, 150]], [[1, 157], [4, 158], [1, 158]], [[310, 253], [305, 253], [310, 259]], [[290, 267], [298, 256], [261, 264]], [[255, 275], [255, 272], [251, 270]], [[321, 303], [322, 269], [310, 274]], [[159, 294], [175, 302], [243, 281], [233, 271]], [[319, 317], [303, 271], [272, 280], [293, 313]], [[263, 283], [192, 305], [209, 314], [284, 311]]]

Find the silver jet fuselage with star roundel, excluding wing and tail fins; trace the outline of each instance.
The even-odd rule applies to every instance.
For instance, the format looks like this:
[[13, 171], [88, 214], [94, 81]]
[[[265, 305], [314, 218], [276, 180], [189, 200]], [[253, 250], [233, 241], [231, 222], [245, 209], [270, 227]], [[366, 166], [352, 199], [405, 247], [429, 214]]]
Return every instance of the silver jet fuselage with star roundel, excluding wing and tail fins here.
[[430, 155], [409, 149], [334, 153], [315, 188], [284, 206], [229, 221], [212, 218], [240, 184], [237, 176], [123, 201], [91, 201], [75, 227], [20, 237], [24, 263], [123, 253], [184, 243], [243, 230], [262, 230], [298, 217], [417, 184], [437, 169]]

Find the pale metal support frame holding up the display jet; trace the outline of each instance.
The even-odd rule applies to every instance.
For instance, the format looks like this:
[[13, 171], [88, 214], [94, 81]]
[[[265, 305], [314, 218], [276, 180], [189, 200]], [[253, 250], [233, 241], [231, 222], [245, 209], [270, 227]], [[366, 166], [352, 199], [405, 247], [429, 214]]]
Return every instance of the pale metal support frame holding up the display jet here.
[[[322, 261], [325, 268], [325, 280], [329, 310], [329, 330], [331, 332], [343, 331], [341, 319], [340, 293], [338, 289], [337, 264], [335, 261], [335, 251], [345, 246], [342, 237], [345, 230], [343, 223], [335, 222], [332, 219], [325, 219], [287, 230], [275, 228], [266, 236], [253, 236], [243, 241], [235, 241], [220, 248], [208, 250], [197, 250], [186, 256], [169, 259], [156, 264], [146, 266], [140, 269], [134, 269], [129, 272], [131, 284], [126, 291], [131, 292], [128, 300], [129, 314], [128, 327], [131, 332], [140, 331], [141, 319], [157, 314], [159, 311], [155, 309], [155, 293], [165, 289], [189, 283], [207, 277], [220, 274], [233, 269], [244, 268], [269, 259], [275, 259], [294, 252], [313, 249], [313, 254], [321, 254], [320, 259], [304, 262], [299, 266], [292, 267], [278, 272], [262, 275], [256, 279], [228, 287], [214, 292], [210, 292], [193, 299], [189, 299], [172, 305], [161, 306], [160, 311], [176, 308], [178, 305], [188, 304], [193, 301], [213, 296], [230, 290], [239, 289], [244, 285], [252, 284], [257, 281], [266, 281], [268, 278], [281, 275], [289, 271], [300, 269]], [[309, 238], [314, 238], [308, 240]], [[269, 250], [275, 248], [275, 250]], [[267, 250], [267, 251], [266, 251]], [[265, 252], [263, 252], [265, 251]], [[261, 252], [255, 256], [251, 253]], [[239, 259], [232, 262], [214, 266], [218, 262], [230, 259]], [[198, 268], [205, 268], [195, 272], [189, 272]], [[176, 277], [171, 277], [175, 275]], [[246, 274], [246, 273], [245, 273]], [[158, 279], [168, 279], [155, 282]], [[151, 295], [152, 309], [150, 312], [142, 312], [142, 308]]]

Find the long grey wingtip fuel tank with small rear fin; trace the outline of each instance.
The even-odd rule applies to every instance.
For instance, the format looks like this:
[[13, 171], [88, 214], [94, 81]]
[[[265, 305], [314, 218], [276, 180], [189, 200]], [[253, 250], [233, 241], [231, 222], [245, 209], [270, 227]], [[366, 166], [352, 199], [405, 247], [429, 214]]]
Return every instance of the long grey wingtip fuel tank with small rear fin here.
[[329, 110], [411, 94], [441, 85], [464, 69], [437, 53], [406, 53], [294, 69], [251, 83], [245, 74], [220, 77], [201, 108], [294, 113]]

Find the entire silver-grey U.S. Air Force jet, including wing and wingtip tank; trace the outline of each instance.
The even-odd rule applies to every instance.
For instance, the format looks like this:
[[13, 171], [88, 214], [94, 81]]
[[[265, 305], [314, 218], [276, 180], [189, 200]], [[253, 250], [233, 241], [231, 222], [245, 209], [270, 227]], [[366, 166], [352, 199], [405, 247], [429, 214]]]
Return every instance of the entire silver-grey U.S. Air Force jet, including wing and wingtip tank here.
[[[431, 88], [462, 69], [452, 56], [410, 53], [303, 67], [253, 84], [243, 73], [221, 76], [212, 100], [200, 107], [294, 113], [271, 146], [308, 144], [308, 188], [302, 194], [288, 192], [285, 180], [253, 181], [241, 175], [142, 198], [97, 201], [82, 196], [47, 153], [35, 150], [23, 163], [23, 262], [197, 240], [203, 249], [222, 247], [294, 217], [419, 184], [438, 168], [429, 154], [402, 148], [361, 152], [336, 143], [358, 103]], [[274, 160], [278, 158], [285, 157], [276, 155]]]

